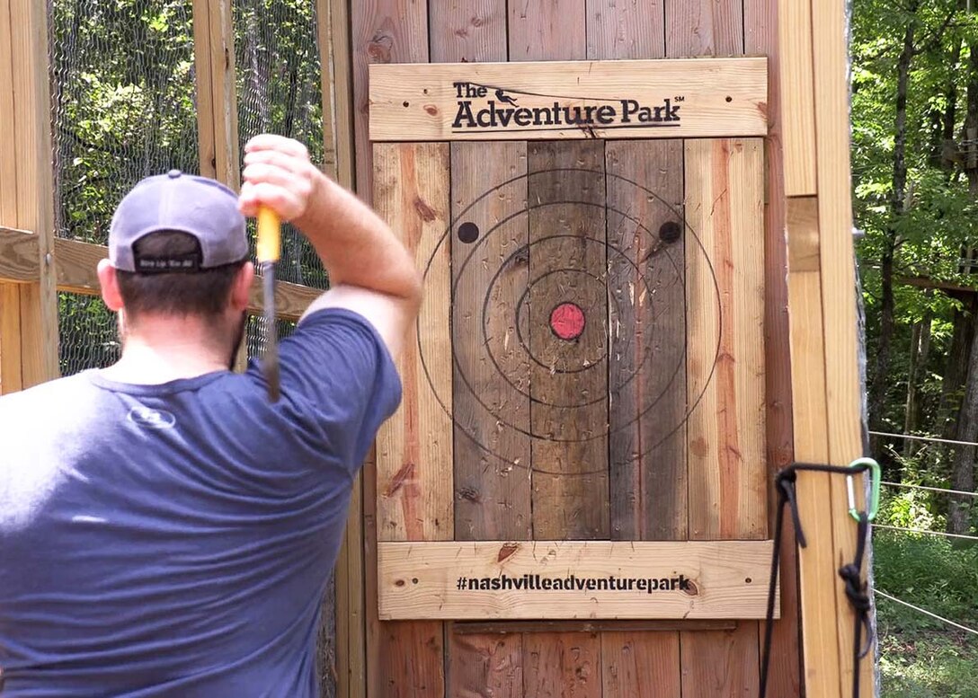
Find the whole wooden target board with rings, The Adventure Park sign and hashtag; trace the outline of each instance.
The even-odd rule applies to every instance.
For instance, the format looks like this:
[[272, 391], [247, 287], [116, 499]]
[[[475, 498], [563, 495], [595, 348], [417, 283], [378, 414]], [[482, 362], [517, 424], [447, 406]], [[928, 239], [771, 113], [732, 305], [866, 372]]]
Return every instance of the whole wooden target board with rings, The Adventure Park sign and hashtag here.
[[763, 618], [766, 60], [370, 76], [425, 284], [379, 617]]

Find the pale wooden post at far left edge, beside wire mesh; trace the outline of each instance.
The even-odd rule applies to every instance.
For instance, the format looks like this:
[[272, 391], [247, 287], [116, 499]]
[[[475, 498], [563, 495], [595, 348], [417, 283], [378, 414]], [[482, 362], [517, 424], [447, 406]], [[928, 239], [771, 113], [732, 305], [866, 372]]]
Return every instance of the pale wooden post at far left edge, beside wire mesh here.
[[0, 280], [0, 393], [56, 378], [58, 302], [54, 275], [54, 171], [48, 89], [47, 3], [0, 8], [0, 225], [37, 236], [38, 282]]

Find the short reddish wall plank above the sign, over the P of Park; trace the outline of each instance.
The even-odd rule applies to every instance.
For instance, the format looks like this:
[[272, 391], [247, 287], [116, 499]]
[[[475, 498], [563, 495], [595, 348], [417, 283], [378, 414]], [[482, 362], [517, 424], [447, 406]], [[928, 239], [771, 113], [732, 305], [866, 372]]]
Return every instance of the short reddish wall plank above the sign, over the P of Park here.
[[664, 58], [666, 32], [662, 3], [663, 0], [587, 0], [587, 58]]

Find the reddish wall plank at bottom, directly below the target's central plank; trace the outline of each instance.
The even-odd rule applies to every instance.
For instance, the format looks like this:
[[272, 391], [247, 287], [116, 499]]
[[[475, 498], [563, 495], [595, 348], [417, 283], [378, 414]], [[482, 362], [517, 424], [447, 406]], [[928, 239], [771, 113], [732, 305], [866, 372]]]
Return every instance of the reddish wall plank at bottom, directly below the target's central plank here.
[[525, 698], [601, 698], [601, 641], [594, 633], [523, 636]]

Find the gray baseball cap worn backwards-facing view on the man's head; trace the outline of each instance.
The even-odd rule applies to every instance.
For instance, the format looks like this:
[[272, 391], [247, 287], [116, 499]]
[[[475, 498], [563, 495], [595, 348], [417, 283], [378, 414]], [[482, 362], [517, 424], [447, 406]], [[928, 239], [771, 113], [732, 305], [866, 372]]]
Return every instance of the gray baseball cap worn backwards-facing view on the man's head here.
[[[115, 209], [109, 260], [140, 274], [196, 272], [240, 262], [248, 255], [238, 196], [216, 180], [180, 170], [147, 177]], [[137, 257], [133, 244], [150, 233], [178, 231], [200, 241], [200, 254]]]

